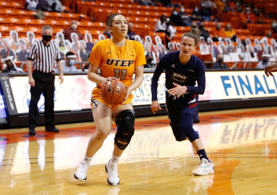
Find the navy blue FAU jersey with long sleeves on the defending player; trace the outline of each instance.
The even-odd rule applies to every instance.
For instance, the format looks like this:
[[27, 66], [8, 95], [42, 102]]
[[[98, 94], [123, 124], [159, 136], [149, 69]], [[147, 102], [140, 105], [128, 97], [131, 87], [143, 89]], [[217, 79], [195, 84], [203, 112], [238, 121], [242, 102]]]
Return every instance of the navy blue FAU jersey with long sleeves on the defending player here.
[[[181, 86], [187, 86], [187, 94], [190, 99], [194, 94], [204, 94], [205, 91], [205, 67], [203, 62], [194, 55], [187, 64], [181, 64], [180, 51], [172, 51], [164, 55], [154, 72], [151, 84], [152, 101], [157, 100], [158, 80], [163, 70], [166, 74], [166, 88], [173, 88], [173, 82]], [[195, 86], [197, 81], [198, 86]]]

